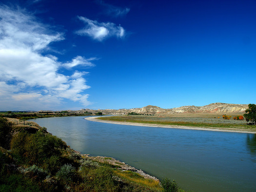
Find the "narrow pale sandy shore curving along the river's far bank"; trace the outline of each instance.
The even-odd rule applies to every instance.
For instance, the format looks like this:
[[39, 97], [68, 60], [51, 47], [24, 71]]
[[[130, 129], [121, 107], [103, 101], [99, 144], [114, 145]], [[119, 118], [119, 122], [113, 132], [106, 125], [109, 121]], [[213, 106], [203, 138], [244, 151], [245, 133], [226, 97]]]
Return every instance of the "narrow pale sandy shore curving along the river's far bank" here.
[[90, 116], [84, 119], [88, 121], [96, 121], [101, 123], [111, 123], [118, 125], [132, 125], [132, 126], [143, 126], [143, 127], [162, 127], [162, 128], [175, 128], [175, 129], [191, 129], [191, 130], [202, 130], [202, 131], [217, 131], [217, 132], [235, 132], [235, 133], [247, 133], [256, 134], [255, 131], [245, 131], [239, 129], [227, 129], [227, 128], [203, 128], [203, 127], [186, 127], [186, 126], [175, 126], [175, 125], [158, 125], [158, 124], [146, 124], [146, 123], [131, 123], [131, 122], [118, 122], [98, 119], [98, 116]]

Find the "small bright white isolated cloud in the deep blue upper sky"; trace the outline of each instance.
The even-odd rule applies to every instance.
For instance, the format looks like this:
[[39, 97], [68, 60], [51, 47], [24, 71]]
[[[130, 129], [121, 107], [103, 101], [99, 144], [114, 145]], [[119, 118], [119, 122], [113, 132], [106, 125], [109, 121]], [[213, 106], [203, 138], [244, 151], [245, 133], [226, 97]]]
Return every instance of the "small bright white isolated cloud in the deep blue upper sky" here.
[[116, 24], [111, 22], [99, 23], [97, 20], [80, 16], [78, 18], [85, 23], [85, 27], [76, 32], [78, 35], [89, 36], [98, 41], [109, 37], [123, 38], [125, 36], [125, 30], [120, 25], [116, 26]]

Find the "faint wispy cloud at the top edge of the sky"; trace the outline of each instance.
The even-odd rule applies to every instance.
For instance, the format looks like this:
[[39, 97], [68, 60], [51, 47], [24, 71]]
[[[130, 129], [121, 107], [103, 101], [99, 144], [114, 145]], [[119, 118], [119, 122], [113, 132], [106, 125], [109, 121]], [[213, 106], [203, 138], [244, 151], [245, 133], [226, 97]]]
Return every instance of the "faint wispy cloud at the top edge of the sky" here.
[[105, 8], [106, 14], [113, 17], [124, 16], [130, 11], [130, 8], [120, 8], [111, 4], [107, 4], [103, 0], [98, 0], [97, 3]]

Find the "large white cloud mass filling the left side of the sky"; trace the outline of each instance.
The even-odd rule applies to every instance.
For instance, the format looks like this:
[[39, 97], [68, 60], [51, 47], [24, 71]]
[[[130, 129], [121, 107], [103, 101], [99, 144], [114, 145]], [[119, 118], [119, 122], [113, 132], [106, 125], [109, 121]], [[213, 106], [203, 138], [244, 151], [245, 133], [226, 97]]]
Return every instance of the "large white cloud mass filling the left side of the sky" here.
[[[72, 76], [59, 73], [59, 68], [77, 65], [94, 66], [96, 58], [76, 56], [61, 63], [55, 56], [45, 56], [49, 44], [60, 41], [63, 34], [49, 30], [25, 10], [0, 6], [0, 106], [2, 110], [37, 110], [58, 107], [63, 99], [90, 102], [84, 90], [90, 88], [75, 71]], [[37, 108], [36, 108], [37, 107]]]

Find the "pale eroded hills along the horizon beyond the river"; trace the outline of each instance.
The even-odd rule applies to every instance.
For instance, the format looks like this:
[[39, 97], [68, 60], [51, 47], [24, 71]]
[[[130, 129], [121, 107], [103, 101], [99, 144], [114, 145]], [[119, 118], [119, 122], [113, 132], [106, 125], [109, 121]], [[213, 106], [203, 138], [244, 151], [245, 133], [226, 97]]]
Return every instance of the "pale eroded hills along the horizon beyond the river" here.
[[76, 111], [76, 113], [98, 113], [102, 112], [103, 114], [108, 115], [127, 115], [129, 113], [135, 112], [138, 114], [182, 114], [182, 113], [243, 113], [248, 109], [247, 104], [228, 104], [228, 103], [212, 103], [205, 106], [182, 106], [172, 109], [163, 109], [158, 106], [148, 105], [142, 108], [133, 108], [133, 109], [105, 109], [105, 110], [91, 110], [91, 109], [81, 109]]

